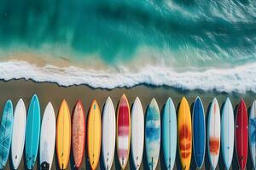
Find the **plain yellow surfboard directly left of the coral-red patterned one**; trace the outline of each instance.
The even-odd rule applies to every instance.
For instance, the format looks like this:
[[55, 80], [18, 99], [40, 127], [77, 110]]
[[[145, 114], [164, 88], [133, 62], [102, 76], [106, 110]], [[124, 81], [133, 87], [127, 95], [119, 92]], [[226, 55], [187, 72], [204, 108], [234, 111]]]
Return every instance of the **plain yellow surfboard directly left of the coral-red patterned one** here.
[[66, 169], [69, 161], [71, 144], [71, 119], [65, 99], [61, 103], [56, 127], [56, 150], [61, 169]]

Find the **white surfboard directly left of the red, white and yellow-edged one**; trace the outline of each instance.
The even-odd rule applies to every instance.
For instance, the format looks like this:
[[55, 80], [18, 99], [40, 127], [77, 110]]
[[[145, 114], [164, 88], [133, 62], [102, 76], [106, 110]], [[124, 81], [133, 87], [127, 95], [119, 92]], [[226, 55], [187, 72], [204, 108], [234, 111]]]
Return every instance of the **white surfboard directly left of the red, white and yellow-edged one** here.
[[113, 102], [111, 98], [108, 97], [102, 115], [102, 157], [106, 170], [111, 169], [113, 164], [116, 135], [115, 123]]

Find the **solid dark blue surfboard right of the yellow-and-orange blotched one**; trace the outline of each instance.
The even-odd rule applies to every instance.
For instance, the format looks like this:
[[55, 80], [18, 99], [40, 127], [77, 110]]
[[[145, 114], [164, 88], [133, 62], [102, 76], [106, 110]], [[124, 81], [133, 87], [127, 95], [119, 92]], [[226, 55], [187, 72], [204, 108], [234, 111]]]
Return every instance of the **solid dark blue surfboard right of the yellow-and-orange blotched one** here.
[[206, 122], [204, 106], [200, 97], [195, 99], [192, 116], [193, 127], [193, 150], [195, 164], [201, 168], [204, 162], [206, 152]]

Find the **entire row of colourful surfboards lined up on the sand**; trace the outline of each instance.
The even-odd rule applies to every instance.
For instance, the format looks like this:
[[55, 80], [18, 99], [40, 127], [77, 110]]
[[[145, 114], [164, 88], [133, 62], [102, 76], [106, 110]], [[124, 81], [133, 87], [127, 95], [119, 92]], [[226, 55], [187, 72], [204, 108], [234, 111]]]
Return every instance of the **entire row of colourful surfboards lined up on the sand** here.
[[18, 101], [15, 111], [13, 111], [12, 102], [8, 100], [4, 105], [0, 127], [0, 168], [5, 167], [9, 150], [11, 150], [11, 161], [14, 169], [17, 169], [23, 155], [24, 145], [28, 169], [32, 169], [37, 161], [38, 150], [40, 168], [50, 169], [55, 147], [61, 169], [67, 168], [71, 148], [74, 166], [79, 168], [84, 158], [86, 145], [91, 169], [96, 169], [98, 166], [101, 149], [104, 167], [110, 169], [113, 164], [115, 147], [119, 166], [124, 169], [129, 159], [131, 145], [132, 162], [138, 169], [143, 159], [145, 139], [146, 160], [150, 170], [154, 170], [157, 166], [160, 144], [162, 144], [167, 169], [173, 168], [177, 149], [183, 169], [190, 167], [192, 149], [196, 166], [201, 168], [206, 147], [208, 147], [207, 154], [212, 169], [217, 167], [220, 147], [222, 147], [224, 165], [229, 169], [233, 159], [234, 145], [236, 145], [238, 164], [241, 169], [245, 169], [248, 136], [255, 167], [256, 102], [253, 101], [249, 122], [247, 107], [243, 99], [236, 111], [236, 123], [229, 98], [224, 102], [221, 115], [218, 101], [213, 99], [208, 114], [206, 128], [201, 99], [199, 97], [195, 99], [191, 119], [189, 103], [183, 97], [177, 114], [175, 105], [169, 98], [161, 117], [158, 104], [155, 99], [152, 99], [144, 119], [140, 99], [135, 99], [130, 112], [128, 100], [123, 94], [119, 100], [117, 120], [113, 102], [109, 97], [102, 115], [96, 100], [92, 101], [87, 126], [85, 126], [85, 114], [81, 101], [75, 105], [71, 117], [67, 102], [63, 99], [57, 120], [55, 121], [54, 108], [49, 103], [44, 110], [41, 124], [40, 105], [36, 94], [32, 97], [27, 116], [22, 99]]

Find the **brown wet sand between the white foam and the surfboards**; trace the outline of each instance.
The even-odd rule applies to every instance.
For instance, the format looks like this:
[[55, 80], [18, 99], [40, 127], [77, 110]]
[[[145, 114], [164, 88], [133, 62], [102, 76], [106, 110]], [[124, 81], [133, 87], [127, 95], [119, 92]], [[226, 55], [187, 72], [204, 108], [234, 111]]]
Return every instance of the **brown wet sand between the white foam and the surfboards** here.
[[[204, 109], [206, 113], [207, 113], [207, 108], [214, 97], [218, 99], [218, 104], [220, 106], [224, 104], [224, 100], [226, 99], [226, 97], [230, 97], [230, 100], [234, 108], [239, 104], [239, 100], [243, 98], [245, 99], [247, 108], [249, 108], [252, 105], [253, 99], [256, 96], [255, 94], [250, 92], [248, 92], [247, 94], [236, 94], [236, 93], [226, 94], [226, 93], [218, 93], [216, 91], [207, 91], [207, 92], [201, 91], [201, 90], [191, 91], [191, 90], [182, 90], [182, 89], [169, 88], [169, 87], [151, 87], [147, 85], [139, 85], [134, 88], [114, 88], [113, 90], [106, 90], [101, 88], [95, 89], [85, 85], [71, 86], [71, 87], [65, 88], [65, 87], [60, 87], [55, 83], [50, 83], [50, 82], [38, 83], [38, 82], [32, 82], [32, 81], [26, 81], [26, 80], [12, 80], [9, 82], [0, 81], [0, 92], [1, 92], [1, 95], [0, 95], [1, 115], [3, 111], [3, 105], [7, 99], [12, 99], [13, 104], [15, 106], [18, 100], [22, 98], [24, 99], [26, 109], [27, 109], [30, 99], [32, 98], [32, 95], [38, 94], [38, 98], [41, 105], [41, 118], [43, 117], [44, 108], [48, 102], [51, 102], [52, 105], [54, 106], [55, 115], [57, 116], [62, 99], [67, 100], [67, 104], [69, 106], [70, 111], [73, 110], [73, 107], [77, 99], [81, 99], [84, 104], [84, 111], [87, 115], [92, 99], [96, 99], [96, 101], [98, 102], [98, 104], [102, 109], [106, 99], [108, 98], [108, 96], [110, 96], [111, 99], [113, 100], [113, 105], [116, 109], [122, 94], [126, 94], [127, 99], [129, 100], [130, 106], [132, 105], [135, 98], [138, 96], [141, 99], [144, 112], [146, 111], [147, 106], [149, 105], [150, 100], [152, 98], [155, 98], [157, 100], [158, 105], [160, 107], [160, 111], [162, 111], [163, 106], [165, 105], [168, 97], [172, 98], [174, 105], [176, 105], [176, 108], [177, 108], [177, 105], [179, 104], [183, 96], [185, 96], [188, 99], [189, 105], [192, 107], [196, 96], [199, 95], [204, 104], [204, 107], [205, 107]], [[19, 169], [25, 169], [26, 167], [24, 156], [23, 156], [23, 160], [20, 163]], [[248, 151], [248, 158], [249, 157], [250, 156]], [[157, 169], [166, 169], [162, 161], [163, 161], [163, 156], [160, 156]], [[193, 162], [194, 161], [193, 155], [192, 155], [191, 161], [192, 161], [191, 168], [195, 169], [195, 162]], [[179, 163], [179, 157], [177, 152], [175, 168], [180, 169], [179, 164], [180, 163]], [[125, 169], [130, 169], [130, 167], [132, 167], [130, 165], [131, 165], [131, 161], [128, 163]], [[247, 169], [251, 169], [252, 168], [251, 165], [252, 165], [251, 161], [248, 160]], [[10, 166], [10, 161], [7, 163], [7, 169], [9, 169], [9, 166]], [[84, 162], [81, 169], [89, 169], [88, 166], [89, 166], [89, 163], [87, 161], [87, 157], [84, 157]], [[118, 166], [119, 166], [119, 161], [115, 154], [115, 159], [113, 162], [112, 169], [119, 169]], [[218, 169], [224, 169], [223, 166], [224, 166], [224, 162], [222, 161], [222, 158], [220, 156]], [[57, 167], [58, 167], [58, 164], [55, 156], [52, 169], [57, 169]], [[70, 165], [68, 166], [68, 169], [72, 169], [72, 167], [73, 165], [72, 163], [70, 163]], [[140, 169], [143, 169], [143, 168], [146, 169], [146, 167], [147, 167], [146, 162], [145, 160], [143, 160], [143, 164]], [[234, 159], [232, 161], [232, 167], [233, 169], [238, 169], [237, 163], [236, 163], [236, 150], [234, 150]], [[37, 165], [35, 165], [34, 169], [37, 169]], [[98, 169], [100, 169], [100, 165]], [[207, 152], [205, 157], [205, 165], [202, 169], [209, 169]]]

